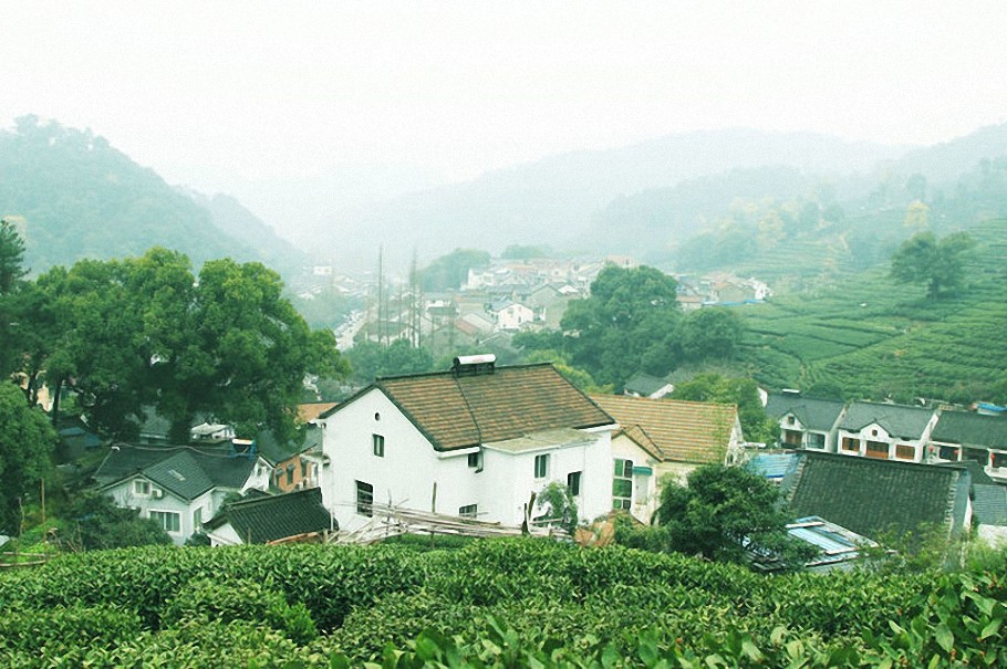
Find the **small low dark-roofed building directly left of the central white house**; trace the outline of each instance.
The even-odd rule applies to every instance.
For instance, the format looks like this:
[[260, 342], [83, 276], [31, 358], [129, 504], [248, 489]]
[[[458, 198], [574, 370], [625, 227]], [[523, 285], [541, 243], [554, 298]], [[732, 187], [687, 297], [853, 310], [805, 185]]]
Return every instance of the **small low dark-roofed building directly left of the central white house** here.
[[232, 546], [320, 541], [338, 525], [322, 505], [322, 491], [311, 488], [231, 502], [204, 527], [210, 545]]

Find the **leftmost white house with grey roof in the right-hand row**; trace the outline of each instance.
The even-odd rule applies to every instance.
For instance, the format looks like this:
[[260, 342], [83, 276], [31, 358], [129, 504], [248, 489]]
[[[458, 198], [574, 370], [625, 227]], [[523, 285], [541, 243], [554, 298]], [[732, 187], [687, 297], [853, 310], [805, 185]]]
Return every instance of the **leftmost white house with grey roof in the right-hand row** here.
[[780, 446], [835, 452], [837, 425], [845, 405], [832, 399], [801, 397], [800, 393], [770, 393], [766, 415], [780, 424]]

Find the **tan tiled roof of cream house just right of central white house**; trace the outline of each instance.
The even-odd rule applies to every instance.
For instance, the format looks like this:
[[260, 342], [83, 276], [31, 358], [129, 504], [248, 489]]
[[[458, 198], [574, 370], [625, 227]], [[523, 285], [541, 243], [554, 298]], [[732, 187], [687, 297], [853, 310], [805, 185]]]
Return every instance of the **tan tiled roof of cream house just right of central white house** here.
[[662, 461], [723, 462], [738, 416], [734, 405], [626, 395], [592, 395], [623, 430], [642, 429]]

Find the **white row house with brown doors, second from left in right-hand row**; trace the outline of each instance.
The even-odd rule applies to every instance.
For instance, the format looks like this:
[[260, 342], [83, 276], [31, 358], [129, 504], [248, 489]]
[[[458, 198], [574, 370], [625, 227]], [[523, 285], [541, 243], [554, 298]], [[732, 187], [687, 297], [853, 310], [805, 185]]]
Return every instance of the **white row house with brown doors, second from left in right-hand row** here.
[[854, 401], [837, 425], [838, 452], [921, 462], [937, 414], [917, 407]]

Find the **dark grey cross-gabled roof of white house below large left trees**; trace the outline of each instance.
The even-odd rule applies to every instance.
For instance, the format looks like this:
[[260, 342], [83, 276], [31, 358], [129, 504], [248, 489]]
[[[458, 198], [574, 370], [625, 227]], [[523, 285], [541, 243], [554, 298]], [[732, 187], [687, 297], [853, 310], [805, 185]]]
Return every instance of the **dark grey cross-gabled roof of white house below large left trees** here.
[[94, 479], [107, 488], [142, 474], [185, 500], [194, 500], [212, 488], [240, 490], [251, 475], [256, 460], [221, 448], [118, 443], [112, 447]]

